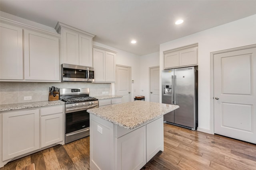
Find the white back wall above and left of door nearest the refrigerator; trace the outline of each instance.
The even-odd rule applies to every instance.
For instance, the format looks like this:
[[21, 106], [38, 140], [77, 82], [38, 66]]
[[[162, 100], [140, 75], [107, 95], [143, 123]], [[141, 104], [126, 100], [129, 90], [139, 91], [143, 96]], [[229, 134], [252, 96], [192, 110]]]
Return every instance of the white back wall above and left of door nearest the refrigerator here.
[[140, 56], [140, 92], [136, 96], [145, 96], [145, 101], [149, 101], [149, 67], [159, 66], [159, 52]]

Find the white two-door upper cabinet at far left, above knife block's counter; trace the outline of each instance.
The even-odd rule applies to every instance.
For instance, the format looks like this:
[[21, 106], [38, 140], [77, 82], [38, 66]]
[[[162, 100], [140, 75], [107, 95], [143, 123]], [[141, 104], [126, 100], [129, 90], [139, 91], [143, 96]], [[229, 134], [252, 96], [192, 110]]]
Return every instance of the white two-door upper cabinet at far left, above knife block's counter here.
[[60, 35], [0, 18], [0, 81], [60, 82]]

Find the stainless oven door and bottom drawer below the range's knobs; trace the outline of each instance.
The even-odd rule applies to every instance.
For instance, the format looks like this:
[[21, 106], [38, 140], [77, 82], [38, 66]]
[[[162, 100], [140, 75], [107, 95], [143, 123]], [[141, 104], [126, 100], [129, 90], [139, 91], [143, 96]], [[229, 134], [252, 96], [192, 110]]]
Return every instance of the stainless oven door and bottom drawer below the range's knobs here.
[[86, 110], [96, 107], [98, 105], [66, 108], [65, 143], [90, 135], [90, 115]]

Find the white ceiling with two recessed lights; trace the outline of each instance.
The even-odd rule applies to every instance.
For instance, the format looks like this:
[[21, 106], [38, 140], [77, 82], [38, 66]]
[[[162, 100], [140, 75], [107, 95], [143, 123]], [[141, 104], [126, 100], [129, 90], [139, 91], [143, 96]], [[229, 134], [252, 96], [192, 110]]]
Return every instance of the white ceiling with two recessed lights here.
[[[93, 41], [141, 56], [254, 15], [256, 0], [0, 0], [0, 10], [53, 28], [60, 21], [95, 34]], [[184, 23], [175, 25], [178, 19]]]

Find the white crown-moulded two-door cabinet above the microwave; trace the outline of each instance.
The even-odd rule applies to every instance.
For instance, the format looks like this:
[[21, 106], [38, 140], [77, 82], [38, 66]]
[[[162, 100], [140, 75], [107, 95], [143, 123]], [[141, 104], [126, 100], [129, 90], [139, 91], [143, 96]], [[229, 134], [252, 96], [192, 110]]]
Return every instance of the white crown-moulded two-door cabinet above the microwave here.
[[92, 38], [95, 35], [61, 22], [55, 29], [62, 37], [62, 63], [92, 67]]

